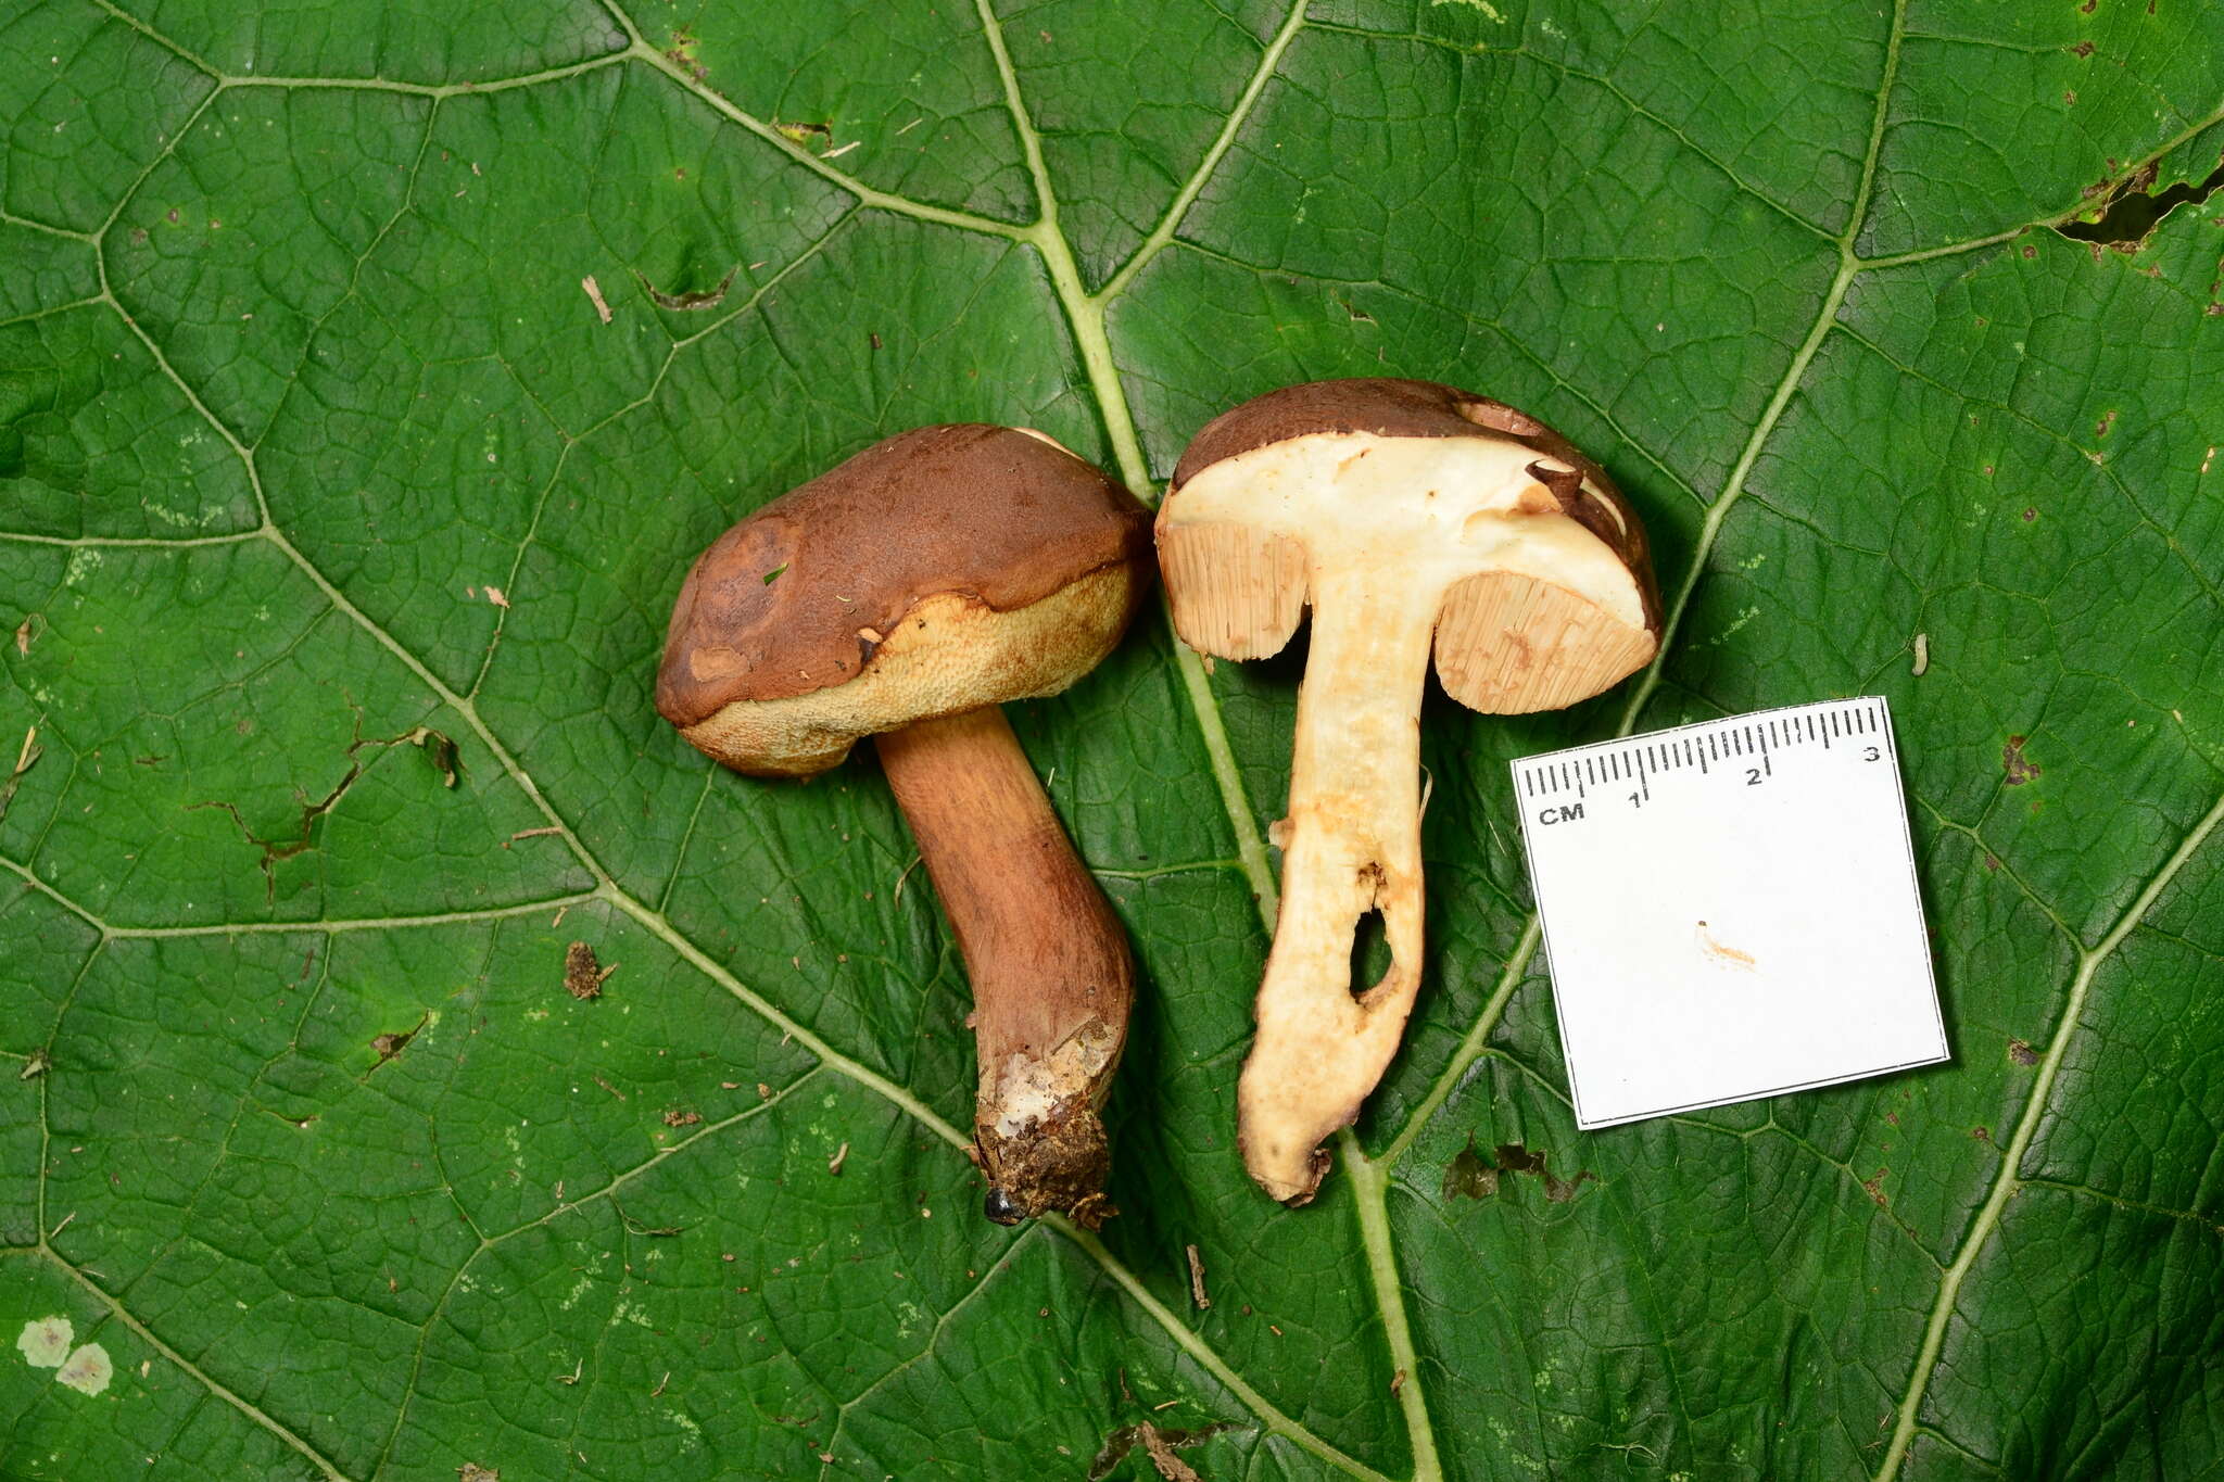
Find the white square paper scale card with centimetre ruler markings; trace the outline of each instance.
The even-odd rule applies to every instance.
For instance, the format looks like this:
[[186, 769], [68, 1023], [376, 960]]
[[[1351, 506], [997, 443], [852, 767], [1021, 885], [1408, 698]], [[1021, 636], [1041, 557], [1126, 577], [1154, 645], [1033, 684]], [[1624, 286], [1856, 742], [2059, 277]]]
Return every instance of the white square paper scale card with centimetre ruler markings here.
[[1884, 700], [1512, 769], [1579, 1126], [1946, 1060]]

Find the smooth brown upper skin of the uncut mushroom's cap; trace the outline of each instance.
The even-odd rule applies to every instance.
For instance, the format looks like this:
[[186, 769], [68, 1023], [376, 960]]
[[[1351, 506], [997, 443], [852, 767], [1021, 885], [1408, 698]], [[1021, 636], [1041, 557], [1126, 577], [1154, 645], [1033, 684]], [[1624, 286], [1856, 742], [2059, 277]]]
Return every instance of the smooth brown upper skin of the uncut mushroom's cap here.
[[1059, 444], [1012, 427], [921, 427], [718, 535], [672, 607], [656, 709], [692, 727], [736, 700], [845, 684], [936, 593], [996, 611], [1150, 560], [1150, 513]]

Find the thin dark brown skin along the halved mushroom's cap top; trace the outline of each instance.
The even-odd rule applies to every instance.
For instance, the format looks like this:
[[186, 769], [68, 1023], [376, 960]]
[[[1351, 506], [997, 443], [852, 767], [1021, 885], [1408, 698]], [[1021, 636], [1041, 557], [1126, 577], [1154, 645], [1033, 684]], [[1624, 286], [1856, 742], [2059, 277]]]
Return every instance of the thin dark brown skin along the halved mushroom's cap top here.
[[[1637, 578], [1646, 604], [1646, 629], [1659, 633], [1659, 589], [1652, 580], [1652, 551], [1646, 529], [1606, 469], [1586, 458], [1572, 442], [1537, 418], [1506, 402], [1434, 380], [1363, 375], [1357, 380], [1310, 380], [1254, 395], [1234, 411], [1223, 411], [1199, 429], [1168, 493], [1181, 489], [1223, 458], [1237, 458], [1270, 442], [1312, 438], [1317, 433], [1370, 433], [1374, 438], [1479, 438], [1501, 435], [1575, 469], [1532, 467], [1539, 484], [1550, 489], [1559, 513], [1606, 542]], [[1583, 489], [1590, 484], [1590, 489]], [[1608, 511], [1601, 504], [1612, 504]], [[1615, 518], [1619, 515], [1619, 520]]]

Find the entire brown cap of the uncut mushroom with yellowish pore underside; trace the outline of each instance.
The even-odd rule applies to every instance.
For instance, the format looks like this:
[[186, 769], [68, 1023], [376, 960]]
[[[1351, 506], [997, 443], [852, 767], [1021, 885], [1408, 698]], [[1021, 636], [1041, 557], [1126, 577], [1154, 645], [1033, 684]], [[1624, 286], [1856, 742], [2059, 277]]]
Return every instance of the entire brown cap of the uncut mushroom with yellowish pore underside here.
[[1150, 515], [1096, 467], [1012, 427], [921, 427], [703, 551], [656, 709], [727, 767], [810, 775], [861, 735], [1059, 693], [1150, 569]]

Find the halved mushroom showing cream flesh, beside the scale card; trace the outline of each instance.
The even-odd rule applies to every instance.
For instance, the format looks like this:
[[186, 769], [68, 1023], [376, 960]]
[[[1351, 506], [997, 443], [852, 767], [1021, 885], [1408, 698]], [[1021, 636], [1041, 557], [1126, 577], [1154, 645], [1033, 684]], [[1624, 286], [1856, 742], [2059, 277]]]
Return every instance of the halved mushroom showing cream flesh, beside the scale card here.
[[[1303, 1204], [1421, 984], [1421, 687], [1477, 711], [1575, 704], [1659, 647], [1646, 535], [1543, 422], [1419, 380], [1323, 380], [1205, 424], [1159, 507], [1183, 642], [1265, 658], [1312, 604], [1281, 913], [1237, 1089], [1252, 1180]], [[1379, 911], [1390, 969], [1352, 987]]]

